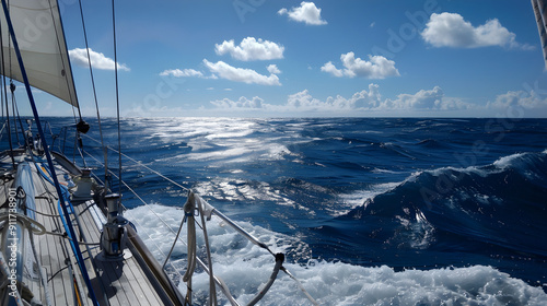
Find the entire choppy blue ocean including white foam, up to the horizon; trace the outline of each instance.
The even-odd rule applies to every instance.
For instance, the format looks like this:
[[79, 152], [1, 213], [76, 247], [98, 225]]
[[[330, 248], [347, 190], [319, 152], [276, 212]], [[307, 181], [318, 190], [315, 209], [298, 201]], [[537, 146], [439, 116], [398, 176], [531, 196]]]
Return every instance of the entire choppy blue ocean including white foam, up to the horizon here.
[[[48, 120], [55, 133], [67, 118]], [[101, 157], [89, 121], [83, 148]], [[102, 128], [117, 149], [116, 120]], [[319, 305], [547, 305], [546, 119], [135, 118], [120, 128], [124, 154], [283, 251]], [[117, 167], [113, 150], [108, 161]], [[163, 261], [174, 234], [156, 216], [176, 229], [187, 191], [121, 161], [148, 203], [123, 186], [125, 215]], [[207, 229], [214, 272], [248, 303], [274, 258], [214, 216]], [[184, 273], [186, 247], [171, 259]], [[198, 305], [207, 284], [198, 270]], [[280, 272], [260, 305], [312, 304]]]

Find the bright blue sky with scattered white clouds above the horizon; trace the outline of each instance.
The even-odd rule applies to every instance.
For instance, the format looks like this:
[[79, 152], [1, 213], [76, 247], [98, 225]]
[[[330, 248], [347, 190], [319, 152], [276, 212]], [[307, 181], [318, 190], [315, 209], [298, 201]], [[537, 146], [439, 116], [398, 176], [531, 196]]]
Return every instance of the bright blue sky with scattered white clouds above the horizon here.
[[[94, 116], [80, 7], [59, 2], [80, 108]], [[115, 116], [112, 3], [83, 2], [98, 106]], [[121, 0], [115, 11], [123, 117], [547, 117], [529, 1]], [[43, 115], [72, 114], [35, 98]]]

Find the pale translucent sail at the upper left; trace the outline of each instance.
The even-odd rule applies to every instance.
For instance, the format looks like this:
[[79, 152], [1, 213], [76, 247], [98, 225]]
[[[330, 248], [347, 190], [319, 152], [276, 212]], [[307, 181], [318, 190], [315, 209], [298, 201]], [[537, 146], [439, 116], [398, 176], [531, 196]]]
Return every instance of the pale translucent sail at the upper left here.
[[[11, 22], [32, 86], [78, 107], [72, 71], [57, 0], [10, 0]], [[0, 73], [23, 81], [2, 7], [1, 35], [5, 69]], [[1, 64], [1, 62], [0, 62]]]

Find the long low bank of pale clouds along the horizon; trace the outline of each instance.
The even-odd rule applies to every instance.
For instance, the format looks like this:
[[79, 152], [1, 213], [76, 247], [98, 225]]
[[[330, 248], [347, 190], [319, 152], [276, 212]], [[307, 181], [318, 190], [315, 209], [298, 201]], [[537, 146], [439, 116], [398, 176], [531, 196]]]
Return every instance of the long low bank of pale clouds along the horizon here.
[[[270, 104], [263, 98], [240, 97], [212, 101], [217, 110], [252, 111], [253, 116], [447, 116], [447, 117], [545, 117], [547, 98], [536, 93], [515, 91], [498, 95], [492, 102], [478, 105], [462, 98], [449, 97], [443, 90], [434, 86], [414, 94], [399, 94], [395, 98], [384, 98], [377, 84], [369, 84], [366, 90], [349, 97], [314, 97], [309, 90], [296, 92], [282, 104]], [[261, 111], [261, 113], [260, 113]]]

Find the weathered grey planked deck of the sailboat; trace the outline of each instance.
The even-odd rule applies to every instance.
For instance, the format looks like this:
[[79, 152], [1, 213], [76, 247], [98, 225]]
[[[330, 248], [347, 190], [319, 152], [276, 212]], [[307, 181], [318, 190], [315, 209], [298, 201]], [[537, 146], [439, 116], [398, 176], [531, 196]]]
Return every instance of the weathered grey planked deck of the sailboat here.
[[[40, 177], [36, 167], [32, 168], [36, 221], [44, 225], [48, 233], [62, 235], [65, 227], [58, 212], [55, 187]], [[67, 172], [60, 166], [57, 166], [56, 170], [61, 185], [67, 184], [63, 179]], [[2, 185], [2, 188], [0, 203], [7, 201], [5, 191], [9, 187]], [[82, 243], [80, 250], [100, 305], [172, 304], [154, 275], [147, 269], [147, 264], [141, 264], [142, 257], [135, 256], [130, 248], [126, 248], [124, 258], [102, 260], [104, 256], [101, 254], [98, 242], [102, 223], [106, 222], [104, 214], [93, 200], [72, 204], [75, 212], [71, 214], [74, 232], [78, 240]], [[49, 299], [51, 305], [94, 305], [72, 254], [70, 240], [63, 236], [45, 234], [34, 235], [34, 243], [42, 271], [46, 274], [49, 297], [46, 297], [46, 291], [37, 281], [37, 270], [34, 271], [36, 281], [27, 284], [31, 292], [39, 296], [44, 305], [47, 304], [46, 299]], [[135, 248], [132, 250], [138, 252]]]

